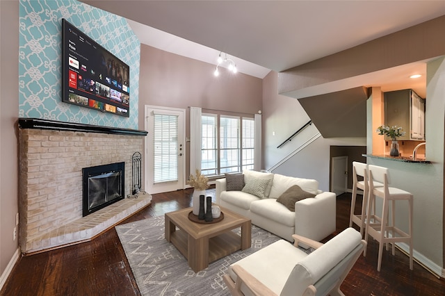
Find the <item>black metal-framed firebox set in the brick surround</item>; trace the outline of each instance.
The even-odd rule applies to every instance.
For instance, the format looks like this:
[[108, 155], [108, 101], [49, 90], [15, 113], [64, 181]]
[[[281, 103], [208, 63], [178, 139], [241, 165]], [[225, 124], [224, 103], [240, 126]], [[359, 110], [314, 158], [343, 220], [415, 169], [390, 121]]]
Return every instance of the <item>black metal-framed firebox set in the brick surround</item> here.
[[124, 199], [125, 163], [84, 167], [83, 217]]

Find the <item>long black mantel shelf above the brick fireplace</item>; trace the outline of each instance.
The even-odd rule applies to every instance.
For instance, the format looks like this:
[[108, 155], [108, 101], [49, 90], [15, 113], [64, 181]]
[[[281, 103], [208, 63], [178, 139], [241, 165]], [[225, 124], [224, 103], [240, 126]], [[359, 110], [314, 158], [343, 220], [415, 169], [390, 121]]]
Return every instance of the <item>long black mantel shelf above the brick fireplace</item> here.
[[54, 131], [83, 131], [86, 133], [108, 133], [114, 135], [140, 135], [145, 137], [147, 131], [136, 129], [121, 129], [112, 126], [97, 126], [92, 124], [80, 124], [73, 122], [58, 122], [40, 118], [19, 118], [20, 129], [48, 129]]

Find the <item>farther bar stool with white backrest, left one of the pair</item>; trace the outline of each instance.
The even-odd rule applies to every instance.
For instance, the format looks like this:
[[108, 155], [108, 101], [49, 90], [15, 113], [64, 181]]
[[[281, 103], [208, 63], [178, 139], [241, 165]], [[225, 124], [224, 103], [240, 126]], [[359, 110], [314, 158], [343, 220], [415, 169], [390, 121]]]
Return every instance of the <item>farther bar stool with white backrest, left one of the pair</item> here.
[[[363, 179], [359, 181], [360, 179]], [[373, 181], [374, 187], [382, 187], [383, 183]], [[362, 200], [362, 211], [360, 213], [355, 214], [355, 202], [357, 199], [357, 190], [363, 190], [363, 200]], [[364, 232], [364, 224], [366, 222], [366, 215], [371, 213], [375, 213], [375, 206], [373, 208], [374, 211], [370, 211], [371, 209], [367, 208], [368, 206], [368, 198], [369, 198], [369, 178], [368, 178], [368, 165], [366, 163], [359, 163], [357, 161], [353, 161], [353, 196], [350, 201], [350, 217], [349, 217], [349, 227], [353, 227], [353, 223], [357, 224], [360, 227], [360, 234], [363, 236]]]

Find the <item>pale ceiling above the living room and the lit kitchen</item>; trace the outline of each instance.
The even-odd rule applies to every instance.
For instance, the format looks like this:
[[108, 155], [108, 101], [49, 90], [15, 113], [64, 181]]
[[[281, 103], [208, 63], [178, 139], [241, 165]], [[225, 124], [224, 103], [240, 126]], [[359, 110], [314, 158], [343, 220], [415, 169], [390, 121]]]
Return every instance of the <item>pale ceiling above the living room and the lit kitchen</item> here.
[[[445, 15], [445, 1], [425, 0], [82, 2], [129, 19], [143, 44], [207, 63], [223, 51], [239, 72], [259, 78]], [[426, 74], [425, 62], [394, 70], [365, 86], [387, 91], [410, 83], [425, 97], [425, 75], [419, 86], [406, 78]]]

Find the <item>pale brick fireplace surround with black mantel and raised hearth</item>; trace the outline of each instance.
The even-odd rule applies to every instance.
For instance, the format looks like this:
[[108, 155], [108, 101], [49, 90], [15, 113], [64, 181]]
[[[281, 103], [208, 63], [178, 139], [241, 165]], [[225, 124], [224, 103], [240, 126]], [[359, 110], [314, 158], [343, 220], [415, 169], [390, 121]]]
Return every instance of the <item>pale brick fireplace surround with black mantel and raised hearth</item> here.
[[140, 194], [82, 217], [82, 168], [125, 162], [128, 197], [131, 156], [143, 151], [146, 131], [31, 118], [20, 118], [18, 126], [23, 254], [92, 240], [150, 204], [151, 195]]

